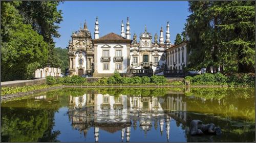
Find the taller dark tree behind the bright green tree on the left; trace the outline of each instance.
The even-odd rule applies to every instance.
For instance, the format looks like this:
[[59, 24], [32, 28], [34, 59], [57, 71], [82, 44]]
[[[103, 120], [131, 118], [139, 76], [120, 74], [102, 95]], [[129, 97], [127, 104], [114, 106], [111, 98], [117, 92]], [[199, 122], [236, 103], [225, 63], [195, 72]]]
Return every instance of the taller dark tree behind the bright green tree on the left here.
[[59, 24], [62, 21], [61, 10], [57, 10], [59, 1], [23, 1], [18, 7], [19, 13], [26, 17], [24, 22], [31, 24], [33, 29], [44, 37], [48, 43], [48, 60], [43, 66], [60, 67], [60, 59], [56, 56], [53, 37], [59, 38]]

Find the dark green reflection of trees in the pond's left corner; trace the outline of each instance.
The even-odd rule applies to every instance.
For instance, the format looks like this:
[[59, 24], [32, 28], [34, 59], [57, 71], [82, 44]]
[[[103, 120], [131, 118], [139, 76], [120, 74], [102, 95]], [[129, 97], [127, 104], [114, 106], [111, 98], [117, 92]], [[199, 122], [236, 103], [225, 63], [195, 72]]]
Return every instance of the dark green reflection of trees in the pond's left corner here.
[[[56, 95], [47, 93], [47, 99], [28, 98], [2, 105], [2, 141], [58, 141], [59, 131], [51, 132], [54, 112], [60, 107]], [[50, 100], [48, 102], [48, 100]]]

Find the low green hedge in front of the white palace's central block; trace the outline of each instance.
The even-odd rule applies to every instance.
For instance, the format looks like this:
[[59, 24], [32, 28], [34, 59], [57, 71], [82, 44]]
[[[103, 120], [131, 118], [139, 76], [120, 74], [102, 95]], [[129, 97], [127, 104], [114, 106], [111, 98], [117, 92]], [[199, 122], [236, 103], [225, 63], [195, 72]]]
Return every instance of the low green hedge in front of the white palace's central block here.
[[118, 72], [115, 72], [111, 77], [103, 77], [98, 80], [98, 83], [165, 83], [167, 80], [164, 76], [153, 75], [151, 77], [147, 76], [135, 76], [135, 77], [121, 77]]

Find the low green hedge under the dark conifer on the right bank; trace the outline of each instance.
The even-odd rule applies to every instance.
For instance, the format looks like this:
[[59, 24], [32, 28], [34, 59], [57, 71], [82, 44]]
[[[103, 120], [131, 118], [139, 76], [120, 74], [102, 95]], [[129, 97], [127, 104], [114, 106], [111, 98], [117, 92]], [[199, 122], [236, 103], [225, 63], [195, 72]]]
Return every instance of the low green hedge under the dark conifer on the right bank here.
[[194, 85], [215, 85], [215, 84], [228, 84], [228, 85], [248, 85], [248, 86], [254, 86], [254, 75], [250, 74], [239, 74], [239, 73], [233, 73], [233, 74], [211, 74], [211, 73], [205, 73], [196, 75], [194, 77], [186, 76], [184, 80], [190, 81], [191, 84]]

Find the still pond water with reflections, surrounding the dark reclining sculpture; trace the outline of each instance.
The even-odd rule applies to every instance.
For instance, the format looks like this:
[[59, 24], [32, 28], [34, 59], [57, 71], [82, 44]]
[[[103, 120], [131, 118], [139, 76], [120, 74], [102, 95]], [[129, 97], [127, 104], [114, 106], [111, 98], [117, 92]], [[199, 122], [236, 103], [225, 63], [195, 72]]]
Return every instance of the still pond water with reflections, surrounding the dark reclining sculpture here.
[[[60, 89], [1, 101], [2, 141], [254, 141], [253, 88]], [[191, 120], [222, 135], [189, 135]]]

